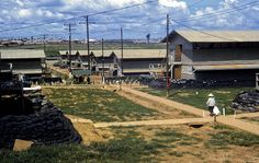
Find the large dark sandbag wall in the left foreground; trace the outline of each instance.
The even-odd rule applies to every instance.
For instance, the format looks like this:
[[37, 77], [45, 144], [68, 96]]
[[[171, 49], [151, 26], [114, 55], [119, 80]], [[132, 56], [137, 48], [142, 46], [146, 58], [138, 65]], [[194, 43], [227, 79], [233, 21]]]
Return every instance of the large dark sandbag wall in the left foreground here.
[[71, 121], [50, 102], [33, 114], [0, 117], [0, 148], [12, 149], [15, 139], [31, 140], [35, 145], [81, 142]]

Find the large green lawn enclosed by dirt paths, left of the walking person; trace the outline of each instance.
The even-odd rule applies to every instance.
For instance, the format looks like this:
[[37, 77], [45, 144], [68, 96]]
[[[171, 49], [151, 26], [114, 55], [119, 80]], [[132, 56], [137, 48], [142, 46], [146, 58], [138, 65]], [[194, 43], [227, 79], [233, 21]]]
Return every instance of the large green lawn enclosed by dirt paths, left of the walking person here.
[[159, 114], [105, 90], [46, 89], [43, 92], [65, 114], [93, 121], [136, 120]]

